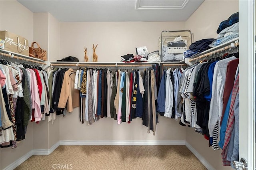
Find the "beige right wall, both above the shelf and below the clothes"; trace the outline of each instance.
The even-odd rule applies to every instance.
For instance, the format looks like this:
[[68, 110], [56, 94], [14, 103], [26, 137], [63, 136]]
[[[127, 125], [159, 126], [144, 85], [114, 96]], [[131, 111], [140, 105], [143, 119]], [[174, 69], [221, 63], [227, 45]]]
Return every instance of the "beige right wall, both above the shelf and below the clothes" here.
[[[186, 21], [186, 29], [190, 29], [194, 41], [203, 38], [216, 38], [220, 22], [238, 12], [238, 0], [206, 0]], [[195, 148], [217, 170], [231, 169], [222, 166], [221, 152], [208, 147], [202, 135], [186, 128], [186, 142]]]

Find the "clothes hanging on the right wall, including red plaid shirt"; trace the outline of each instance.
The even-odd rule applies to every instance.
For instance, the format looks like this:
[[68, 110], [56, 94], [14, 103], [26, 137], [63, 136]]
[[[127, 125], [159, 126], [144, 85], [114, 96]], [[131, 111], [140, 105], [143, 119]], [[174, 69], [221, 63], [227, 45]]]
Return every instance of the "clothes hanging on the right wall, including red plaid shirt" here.
[[194, 127], [196, 132], [202, 133], [214, 150], [222, 148], [224, 166], [239, 157], [236, 139], [239, 134], [237, 57], [237, 54], [225, 54], [186, 68], [178, 94], [178, 103], [183, 106], [178, 104], [176, 107], [178, 112], [183, 107], [181, 125]]

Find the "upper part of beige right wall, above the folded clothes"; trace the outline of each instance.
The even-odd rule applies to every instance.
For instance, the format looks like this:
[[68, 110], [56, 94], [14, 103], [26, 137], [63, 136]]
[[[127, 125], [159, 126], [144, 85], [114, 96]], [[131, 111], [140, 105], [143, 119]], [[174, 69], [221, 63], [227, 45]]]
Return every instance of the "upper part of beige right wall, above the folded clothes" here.
[[186, 21], [194, 42], [203, 38], [216, 38], [220, 22], [238, 12], [238, 0], [205, 0]]

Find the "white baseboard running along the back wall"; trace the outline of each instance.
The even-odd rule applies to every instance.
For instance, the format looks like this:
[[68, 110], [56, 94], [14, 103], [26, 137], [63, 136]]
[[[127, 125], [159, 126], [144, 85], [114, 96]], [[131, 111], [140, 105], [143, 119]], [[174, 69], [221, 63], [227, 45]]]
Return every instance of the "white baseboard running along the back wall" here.
[[185, 145], [185, 140], [60, 140], [60, 145]]

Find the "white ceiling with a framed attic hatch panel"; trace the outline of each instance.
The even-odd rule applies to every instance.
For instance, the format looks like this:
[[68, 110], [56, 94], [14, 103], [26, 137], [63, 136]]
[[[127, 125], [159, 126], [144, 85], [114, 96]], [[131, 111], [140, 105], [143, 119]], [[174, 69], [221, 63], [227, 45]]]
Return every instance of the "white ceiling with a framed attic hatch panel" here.
[[59, 22], [186, 21], [204, 0], [18, 0]]

